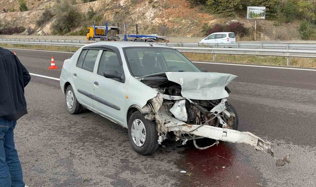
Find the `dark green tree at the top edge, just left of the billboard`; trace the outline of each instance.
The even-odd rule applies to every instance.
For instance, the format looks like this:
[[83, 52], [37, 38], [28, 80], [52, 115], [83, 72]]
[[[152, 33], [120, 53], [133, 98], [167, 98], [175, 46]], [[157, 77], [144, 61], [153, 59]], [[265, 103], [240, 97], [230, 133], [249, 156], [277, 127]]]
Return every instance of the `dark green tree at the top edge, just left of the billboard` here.
[[223, 16], [235, 16], [236, 9], [241, 9], [241, 0], [207, 0], [207, 9], [211, 13]]

